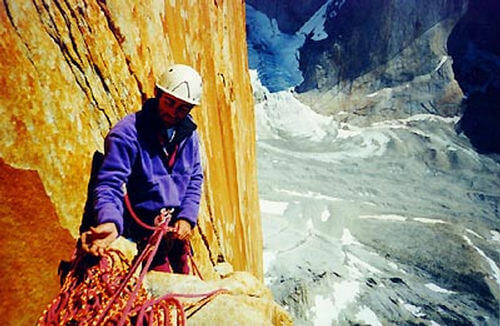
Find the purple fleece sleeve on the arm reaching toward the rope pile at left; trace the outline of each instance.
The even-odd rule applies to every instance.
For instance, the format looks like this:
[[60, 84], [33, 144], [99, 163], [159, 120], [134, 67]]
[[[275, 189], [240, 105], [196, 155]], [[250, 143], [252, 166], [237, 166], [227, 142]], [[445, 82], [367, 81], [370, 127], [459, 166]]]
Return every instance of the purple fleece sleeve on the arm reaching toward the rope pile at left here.
[[130, 176], [136, 154], [132, 137], [113, 130], [106, 137], [104, 161], [94, 188], [94, 209], [97, 222], [115, 223], [119, 234], [123, 233], [123, 185]]

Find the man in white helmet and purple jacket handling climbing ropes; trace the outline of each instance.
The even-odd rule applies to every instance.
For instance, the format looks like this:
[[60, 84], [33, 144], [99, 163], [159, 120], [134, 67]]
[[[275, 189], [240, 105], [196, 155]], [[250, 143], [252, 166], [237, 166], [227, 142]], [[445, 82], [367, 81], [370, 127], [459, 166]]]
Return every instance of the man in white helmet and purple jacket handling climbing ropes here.
[[98, 225], [82, 233], [84, 251], [102, 255], [121, 234], [144, 247], [150, 233], [124, 208], [126, 185], [134, 211], [150, 225], [162, 208], [174, 208], [175, 232], [162, 241], [152, 268], [189, 272], [183, 240], [196, 225], [203, 182], [198, 134], [189, 112], [199, 105], [201, 91], [194, 69], [173, 65], [156, 82], [155, 98], [111, 129], [93, 193]]

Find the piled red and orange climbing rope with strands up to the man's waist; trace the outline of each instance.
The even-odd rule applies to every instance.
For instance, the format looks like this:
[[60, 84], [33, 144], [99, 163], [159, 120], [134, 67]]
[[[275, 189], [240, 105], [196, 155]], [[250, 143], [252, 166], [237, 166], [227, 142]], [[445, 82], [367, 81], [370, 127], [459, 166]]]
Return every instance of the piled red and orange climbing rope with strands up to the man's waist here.
[[[146, 247], [132, 264], [115, 249], [106, 249], [102, 257], [77, 250], [59, 295], [44, 310], [38, 325], [185, 325], [186, 319], [205, 304], [228, 292], [218, 289], [197, 294], [168, 293], [160, 298], [148, 294], [142, 282], [161, 239], [174, 230], [168, 226], [172, 210], [162, 209], [155, 225], [150, 226], [134, 213], [127, 195], [125, 204], [140, 226], [153, 231]], [[193, 270], [201, 278], [191, 251], [188, 252]]]

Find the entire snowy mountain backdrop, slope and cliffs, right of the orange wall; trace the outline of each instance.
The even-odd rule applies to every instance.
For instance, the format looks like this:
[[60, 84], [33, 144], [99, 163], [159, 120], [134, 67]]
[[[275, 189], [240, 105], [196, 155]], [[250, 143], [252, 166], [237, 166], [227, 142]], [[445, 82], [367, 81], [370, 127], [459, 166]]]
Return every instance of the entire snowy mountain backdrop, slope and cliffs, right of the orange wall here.
[[466, 125], [498, 144], [495, 6], [291, 7], [247, 5], [275, 297], [299, 325], [498, 324], [500, 165], [461, 132], [489, 112]]

